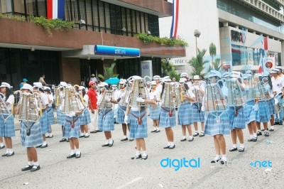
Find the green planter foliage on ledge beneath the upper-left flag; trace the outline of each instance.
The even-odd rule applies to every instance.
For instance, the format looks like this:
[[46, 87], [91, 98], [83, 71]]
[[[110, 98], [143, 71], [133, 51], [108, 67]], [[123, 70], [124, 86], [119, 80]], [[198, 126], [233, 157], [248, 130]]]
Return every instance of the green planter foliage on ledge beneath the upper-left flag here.
[[53, 30], [66, 31], [72, 29], [72, 27], [74, 26], [74, 22], [62, 21], [59, 18], [47, 19], [43, 16], [40, 17], [31, 16], [31, 22], [36, 23], [39, 26], [45, 28], [45, 30], [48, 32], [50, 37], [53, 37], [53, 32], [52, 32]]

